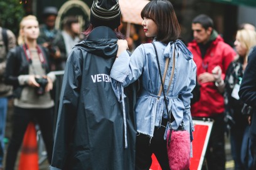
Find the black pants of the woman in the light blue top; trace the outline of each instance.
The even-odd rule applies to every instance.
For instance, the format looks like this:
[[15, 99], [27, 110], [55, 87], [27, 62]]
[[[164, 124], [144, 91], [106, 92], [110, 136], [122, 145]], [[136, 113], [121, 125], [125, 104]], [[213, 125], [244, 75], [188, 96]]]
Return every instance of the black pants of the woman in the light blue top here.
[[154, 153], [163, 170], [169, 170], [167, 144], [164, 140], [166, 128], [154, 129], [154, 137], [139, 134], [136, 138], [136, 170], [149, 169], [152, 164], [151, 156]]

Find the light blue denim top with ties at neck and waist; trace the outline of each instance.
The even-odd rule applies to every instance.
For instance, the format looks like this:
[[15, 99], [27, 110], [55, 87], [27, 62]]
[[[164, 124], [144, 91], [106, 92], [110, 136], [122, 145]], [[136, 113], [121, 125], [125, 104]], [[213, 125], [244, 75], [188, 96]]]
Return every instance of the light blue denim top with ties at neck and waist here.
[[[191, 91], [196, 84], [196, 64], [193, 61], [193, 54], [180, 40], [169, 42], [167, 46], [158, 41], [154, 41], [154, 44], [156, 45], [162, 75], [165, 60], [170, 58], [164, 81], [164, 91], [167, 91], [169, 86], [171, 69], [173, 68], [173, 51], [175, 50], [176, 62], [173, 81], [168, 94], [166, 94], [169, 99], [168, 110], [171, 109], [175, 118], [171, 126], [173, 129], [177, 129], [184, 121], [184, 128], [192, 134], [194, 128], [190, 113], [190, 99], [193, 97]], [[131, 57], [126, 51], [121, 53], [112, 66], [110, 77], [112, 78], [112, 87], [115, 94], [121, 100], [125, 97], [123, 88], [139, 79], [140, 91], [136, 104], [137, 132], [152, 137], [154, 127], [161, 126], [162, 118], [167, 118], [163, 92], [160, 98], [157, 99], [161, 81], [154, 46], [151, 43], [141, 44], [132, 53]], [[164, 139], [166, 139], [166, 136], [164, 136]]]

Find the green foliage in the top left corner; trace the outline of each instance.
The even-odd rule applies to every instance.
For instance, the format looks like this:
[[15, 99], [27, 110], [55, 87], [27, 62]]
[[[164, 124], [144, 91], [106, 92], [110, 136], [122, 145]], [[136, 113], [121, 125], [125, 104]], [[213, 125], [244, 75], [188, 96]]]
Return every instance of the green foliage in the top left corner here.
[[24, 14], [23, 4], [19, 4], [19, 0], [0, 0], [1, 26], [13, 31], [16, 36], [19, 32], [19, 22]]

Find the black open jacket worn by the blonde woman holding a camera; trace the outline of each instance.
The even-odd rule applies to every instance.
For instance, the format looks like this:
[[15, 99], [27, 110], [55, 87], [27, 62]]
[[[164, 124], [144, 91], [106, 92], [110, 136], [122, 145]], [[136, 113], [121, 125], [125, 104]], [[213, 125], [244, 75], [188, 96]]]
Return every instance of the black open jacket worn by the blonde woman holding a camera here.
[[[45, 47], [40, 46], [40, 49], [45, 58], [45, 63], [43, 63], [43, 68], [45, 68], [46, 73], [50, 72], [49, 63], [49, 53]], [[29, 61], [26, 58], [23, 46], [17, 46], [11, 49], [7, 56], [6, 71], [4, 74], [6, 84], [13, 85], [13, 95], [19, 98], [23, 86], [19, 85], [18, 76], [29, 74]]]

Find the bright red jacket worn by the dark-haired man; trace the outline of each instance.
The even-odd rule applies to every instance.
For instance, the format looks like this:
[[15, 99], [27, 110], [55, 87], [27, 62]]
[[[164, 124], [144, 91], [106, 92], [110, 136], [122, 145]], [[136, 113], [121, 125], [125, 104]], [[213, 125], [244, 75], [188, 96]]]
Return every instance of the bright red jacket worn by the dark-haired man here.
[[[201, 58], [200, 47], [196, 41], [188, 44], [188, 49], [194, 56], [197, 66], [197, 76], [209, 72], [220, 66], [222, 69], [222, 79], [225, 78], [228, 65], [233, 61], [236, 53], [220, 36], [211, 43], [207, 49], [205, 58]], [[191, 114], [196, 117], [210, 117], [212, 114], [224, 112], [223, 95], [218, 92], [214, 82], [200, 84], [200, 100], [191, 106]]]

